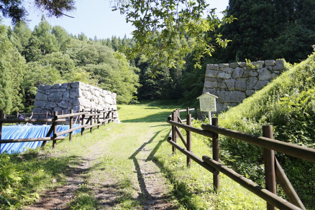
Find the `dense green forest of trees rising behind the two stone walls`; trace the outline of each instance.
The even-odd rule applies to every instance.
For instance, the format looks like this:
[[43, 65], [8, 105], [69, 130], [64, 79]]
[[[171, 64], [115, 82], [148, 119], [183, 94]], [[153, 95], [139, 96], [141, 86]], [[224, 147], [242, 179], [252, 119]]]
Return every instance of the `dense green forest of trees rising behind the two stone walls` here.
[[[238, 20], [210, 31], [208, 37], [215, 39], [219, 32], [232, 42], [226, 48], [214, 46], [212, 56], [201, 60], [201, 68], [194, 65], [193, 48], [184, 62], [152, 66], [145, 54], [126, 59], [123, 49], [137, 44], [136, 39], [126, 36], [92, 39], [83, 32], [72, 35], [60, 26], [49, 25], [44, 16], [33, 30], [25, 23], [13, 28], [2, 25], [0, 107], [5, 112], [30, 111], [37, 85], [71, 81], [113, 91], [118, 103], [181, 99], [193, 104], [202, 93], [206, 64], [278, 58], [294, 63], [306, 59], [315, 43], [314, 8], [315, 2], [310, 0], [229, 1], [226, 15]], [[189, 36], [178, 38], [174, 50], [191, 46], [192, 40]], [[152, 77], [152, 69], [157, 77]]]

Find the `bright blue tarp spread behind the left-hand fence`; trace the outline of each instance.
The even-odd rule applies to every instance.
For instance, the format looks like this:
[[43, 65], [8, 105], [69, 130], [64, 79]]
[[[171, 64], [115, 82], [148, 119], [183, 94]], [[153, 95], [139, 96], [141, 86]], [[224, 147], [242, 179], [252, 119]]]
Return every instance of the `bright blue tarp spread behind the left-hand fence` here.
[[[80, 126], [79, 124], [74, 124], [73, 128]], [[45, 137], [49, 131], [51, 125], [11, 125], [2, 127], [1, 139], [25, 139], [25, 138], [40, 138]], [[69, 129], [69, 125], [58, 125], [57, 133]], [[81, 129], [73, 131], [73, 135], [80, 133]], [[66, 136], [64, 134], [62, 136]], [[52, 134], [50, 135], [52, 136]], [[36, 148], [42, 145], [43, 141], [31, 141], [31, 142], [16, 142], [1, 144], [0, 153], [7, 151], [9, 154], [16, 152], [23, 152], [28, 148]]]

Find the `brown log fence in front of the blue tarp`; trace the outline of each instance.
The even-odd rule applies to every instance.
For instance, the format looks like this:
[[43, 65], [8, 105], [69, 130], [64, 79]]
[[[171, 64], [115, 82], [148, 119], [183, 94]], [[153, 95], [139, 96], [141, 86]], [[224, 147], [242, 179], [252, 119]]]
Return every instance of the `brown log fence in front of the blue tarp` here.
[[[0, 148], [1, 144], [5, 143], [14, 143], [14, 142], [29, 142], [29, 141], [43, 141], [42, 147], [44, 147], [47, 144], [47, 141], [52, 140], [52, 146], [53, 148], [56, 148], [57, 140], [63, 140], [65, 139], [64, 136], [61, 136], [63, 134], [69, 133], [69, 140], [72, 141], [72, 132], [78, 129], [81, 129], [81, 135], [84, 135], [85, 129], [90, 128], [90, 132], [93, 132], [93, 128], [97, 126], [97, 128], [100, 128], [100, 125], [104, 124], [106, 122], [113, 121], [116, 117], [113, 116], [113, 112], [117, 110], [114, 109], [108, 109], [108, 110], [93, 110], [85, 111], [84, 109], [81, 112], [73, 113], [73, 110], [70, 111], [68, 114], [61, 114], [58, 115], [58, 112], [55, 111], [52, 115], [52, 118], [48, 118], [51, 116], [50, 113], [31, 113], [31, 114], [19, 114], [13, 115], [18, 117], [19, 115], [30, 115], [29, 119], [19, 119], [19, 118], [8, 118], [12, 116], [5, 116], [3, 115], [3, 111], [0, 111]], [[34, 115], [43, 115], [46, 114], [46, 118], [39, 118], [35, 119], [32, 118]], [[76, 117], [74, 124], [77, 122], [79, 123], [81, 119], [81, 126], [73, 128], [73, 117]], [[68, 119], [69, 118], [69, 119]], [[86, 120], [86, 121], [85, 121]], [[58, 123], [65, 123], [66, 121], [69, 121], [69, 129], [57, 133], [57, 124]], [[46, 134], [45, 137], [41, 138], [27, 138], [27, 139], [1, 139], [2, 134], [2, 126], [4, 123], [51, 123], [51, 127]], [[53, 133], [52, 137], [50, 135]]]

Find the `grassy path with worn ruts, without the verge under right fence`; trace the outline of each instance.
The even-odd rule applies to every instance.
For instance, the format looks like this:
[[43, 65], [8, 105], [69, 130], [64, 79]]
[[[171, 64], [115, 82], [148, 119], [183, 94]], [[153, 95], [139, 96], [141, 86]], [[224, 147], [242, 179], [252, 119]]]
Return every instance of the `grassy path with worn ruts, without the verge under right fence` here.
[[51, 155], [77, 161], [67, 168], [66, 177], [55, 178], [63, 180], [63, 186], [45, 191], [28, 209], [177, 208], [168, 179], [152, 162], [170, 131], [166, 117], [175, 108], [150, 102], [120, 105], [122, 123], [59, 143]]

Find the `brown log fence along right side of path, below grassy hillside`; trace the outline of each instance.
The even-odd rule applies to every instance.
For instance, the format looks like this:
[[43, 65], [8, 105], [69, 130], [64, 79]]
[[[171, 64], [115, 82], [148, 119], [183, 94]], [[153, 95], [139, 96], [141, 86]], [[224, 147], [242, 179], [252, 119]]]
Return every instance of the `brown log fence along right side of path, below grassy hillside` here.
[[[212, 118], [212, 125], [202, 124], [201, 128], [191, 126], [190, 110], [175, 110], [168, 116], [167, 122], [172, 125], [172, 131], [167, 141], [172, 145], [173, 154], [176, 149], [187, 156], [187, 167], [191, 167], [191, 160], [197, 162], [199, 165], [213, 173], [213, 186], [215, 191], [220, 190], [220, 172], [242, 185], [249, 191], [264, 199], [267, 203], [267, 210], [279, 209], [303, 209], [305, 207], [301, 202], [299, 196], [295, 192], [284, 170], [281, 168], [277, 158], [274, 156], [274, 151], [284, 153], [286, 155], [294, 156], [310, 162], [315, 162], [315, 150], [278, 141], [273, 139], [272, 126], [262, 126], [263, 136], [256, 136], [249, 133], [243, 133], [218, 126], [218, 118]], [[186, 120], [180, 119], [180, 112], [187, 112]], [[184, 122], [186, 121], [186, 124]], [[179, 128], [186, 131], [186, 139]], [[210, 137], [212, 139], [212, 158], [204, 155], [202, 158], [196, 156], [192, 152], [192, 135], [191, 132]], [[266, 189], [262, 188], [253, 181], [246, 179], [232, 169], [220, 164], [219, 158], [219, 134], [228, 136], [240, 141], [244, 141], [253, 145], [264, 148], [264, 164], [265, 164], [265, 182]], [[183, 148], [177, 144], [178, 137], [183, 142]], [[276, 179], [284, 190], [289, 201], [277, 196]]]

